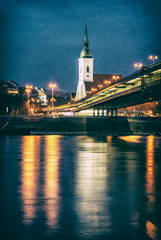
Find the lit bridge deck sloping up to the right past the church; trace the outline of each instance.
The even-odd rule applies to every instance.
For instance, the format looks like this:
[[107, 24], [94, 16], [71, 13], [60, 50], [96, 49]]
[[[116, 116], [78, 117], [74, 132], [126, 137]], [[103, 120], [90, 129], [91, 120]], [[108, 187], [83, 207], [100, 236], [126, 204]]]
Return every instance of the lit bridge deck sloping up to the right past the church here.
[[[161, 98], [161, 61], [143, 67], [119, 82], [105, 87], [80, 101], [54, 108], [56, 112], [89, 108], [121, 108]], [[51, 108], [43, 109], [52, 111]]]

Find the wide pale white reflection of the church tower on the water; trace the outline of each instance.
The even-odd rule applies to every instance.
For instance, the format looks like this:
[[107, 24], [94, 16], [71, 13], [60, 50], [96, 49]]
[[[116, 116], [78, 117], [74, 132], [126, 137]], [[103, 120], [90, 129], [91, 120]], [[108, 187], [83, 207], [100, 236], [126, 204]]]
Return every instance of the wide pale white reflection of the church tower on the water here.
[[[87, 233], [94, 236], [94, 233], [99, 232], [100, 226], [102, 233], [107, 232], [111, 224], [108, 212], [109, 198], [106, 197], [107, 176], [109, 175], [106, 165], [108, 162], [107, 146], [107, 142], [98, 142], [89, 137], [86, 137], [86, 141], [83, 138], [79, 141], [76, 193], [79, 198], [77, 214], [82, 237]], [[101, 203], [98, 199], [102, 200]], [[104, 215], [103, 219], [101, 214]]]

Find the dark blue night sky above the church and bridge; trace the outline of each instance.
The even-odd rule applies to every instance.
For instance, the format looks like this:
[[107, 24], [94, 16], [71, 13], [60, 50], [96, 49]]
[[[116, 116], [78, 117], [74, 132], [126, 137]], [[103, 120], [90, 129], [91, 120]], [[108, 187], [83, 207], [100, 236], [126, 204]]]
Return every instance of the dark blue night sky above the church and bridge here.
[[161, 0], [0, 0], [0, 79], [75, 91], [88, 26], [94, 73], [161, 60]]

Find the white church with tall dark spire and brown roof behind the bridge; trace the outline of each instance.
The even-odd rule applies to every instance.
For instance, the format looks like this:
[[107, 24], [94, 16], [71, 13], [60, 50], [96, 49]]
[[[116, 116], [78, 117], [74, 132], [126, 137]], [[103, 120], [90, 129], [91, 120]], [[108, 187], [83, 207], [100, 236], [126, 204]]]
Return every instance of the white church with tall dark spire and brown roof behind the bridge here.
[[[89, 49], [87, 25], [85, 26], [84, 47], [81, 51], [79, 61], [79, 81], [76, 91], [76, 101], [88, 96], [91, 91], [98, 91], [107, 83], [116, 81], [113, 74], [93, 74], [94, 58]], [[121, 75], [115, 76], [121, 79]]]

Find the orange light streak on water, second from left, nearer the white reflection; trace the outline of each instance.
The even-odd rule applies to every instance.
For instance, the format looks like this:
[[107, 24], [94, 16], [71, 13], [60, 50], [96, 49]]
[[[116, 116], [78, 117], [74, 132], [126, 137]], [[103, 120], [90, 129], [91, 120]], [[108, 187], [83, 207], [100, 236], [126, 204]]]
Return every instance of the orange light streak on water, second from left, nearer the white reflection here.
[[44, 196], [46, 199], [45, 213], [47, 225], [56, 227], [59, 213], [59, 158], [60, 158], [60, 136], [46, 136], [45, 138], [45, 185]]

